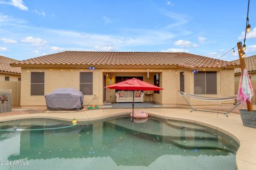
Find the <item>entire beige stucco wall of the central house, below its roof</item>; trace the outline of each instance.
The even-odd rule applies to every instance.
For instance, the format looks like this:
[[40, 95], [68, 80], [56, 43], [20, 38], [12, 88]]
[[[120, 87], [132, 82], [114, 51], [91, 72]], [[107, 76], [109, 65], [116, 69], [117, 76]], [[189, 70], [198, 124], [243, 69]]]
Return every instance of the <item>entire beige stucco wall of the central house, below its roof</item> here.
[[[45, 106], [44, 96], [30, 95], [30, 75], [31, 71], [45, 72], [45, 94], [49, 94], [56, 88], [73, 87], [79, 91], [79, 72], [81, 70], [90, 71], [88, 68], [22, 68], [21, 81], [21, 106]], [[103, 104], [103, 75], [107, 75], [106, 85], [109, 85], [109, 78], [113, 79], [115, 83], [115, 76], [143, 76], [145, 82], [154, 83], [154, 75], [160, 74], [160, 86], [164, 88], [159, 94], [153, 95], [153, 101], [161, 103], [164, 106], [187, 105], [187, 103], [179, 95], [180, 88], [179, 72], [185, 72], [185, 92], [194, 93], [194, 75], [191, 70], [182, 69], [150, 69], [149, 78], [147, 78], [147, 69], [141, 68], [96, 68], [93, 71], [93, 95], [85, 95], [84, 104]], [[234, 95], [234, 69], [226, 69], [217, 71], [217, 94], [206, 96], [229, 96]], [[213, 105], [221, 104], [221, 102], [207, 102], [187, 98], [193, 105]], [[106, 101], [115, 102], [115, 90], [106, 89]], [[145, 101], [152, 101], [145, 95]], [[222, 103], [234, 103], [234, 101], [227, 101]]]

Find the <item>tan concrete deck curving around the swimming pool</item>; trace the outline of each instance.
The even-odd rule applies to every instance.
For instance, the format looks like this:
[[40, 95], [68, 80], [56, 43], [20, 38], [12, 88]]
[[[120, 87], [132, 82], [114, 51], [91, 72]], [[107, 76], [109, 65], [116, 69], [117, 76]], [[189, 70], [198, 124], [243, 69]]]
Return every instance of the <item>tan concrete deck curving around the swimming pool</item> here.
[[[239, 170], [256, 169], [256, 128], [243, 126], [239, 114], [215, 114], [203, 111], [194, 111], [191, 109], [174, 108], [148, 108], [135, 109], [145, 110], [150, 116], [183, 120], [186, 122], [197, 123], [216, 129], [233, 137], [239, 143], [239, 149], [236, 153], [236, 166]], [[85, 110], [79, 112], [47, 112], [42, 114], [25, 114], [0, 117], [0, 122], [17, 119], [29, 118], [50, 118], [71, 121], [76, 118], [78, 123], [88, 120], [97, 120], [131, 112], [131, 109], [98, 109]]]

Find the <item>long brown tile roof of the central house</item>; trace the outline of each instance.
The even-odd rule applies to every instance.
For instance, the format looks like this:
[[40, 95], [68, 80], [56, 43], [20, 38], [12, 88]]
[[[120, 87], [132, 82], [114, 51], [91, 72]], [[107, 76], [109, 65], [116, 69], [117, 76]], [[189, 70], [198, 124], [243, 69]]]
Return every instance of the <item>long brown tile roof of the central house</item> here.
[[65, 51], [17, 61], [13, 66], [178, 66], [182, 68], [226, 68], [238, 64], [189, 53]]

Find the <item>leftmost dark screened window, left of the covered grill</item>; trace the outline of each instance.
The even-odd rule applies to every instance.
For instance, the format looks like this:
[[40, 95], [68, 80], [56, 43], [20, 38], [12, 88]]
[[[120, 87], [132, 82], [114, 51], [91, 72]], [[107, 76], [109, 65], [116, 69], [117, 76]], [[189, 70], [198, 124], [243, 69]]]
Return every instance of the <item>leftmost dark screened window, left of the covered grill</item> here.
[[31, 72], [31, 95], [44, 95], [44, 72]]

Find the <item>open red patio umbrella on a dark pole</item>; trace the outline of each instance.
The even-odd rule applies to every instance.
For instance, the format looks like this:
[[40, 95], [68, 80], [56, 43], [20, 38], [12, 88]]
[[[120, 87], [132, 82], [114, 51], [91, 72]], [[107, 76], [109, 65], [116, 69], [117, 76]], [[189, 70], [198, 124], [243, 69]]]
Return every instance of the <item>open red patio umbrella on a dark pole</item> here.
[[133, 122], [133, 110], [134, 110], [134, 91], [159, 91], [163, 90], [161, 87], [154, 86], [152, 84], [143, 82], [139, 79], [132, 78], [129, 80], [125, 80], [124, 82], [116, 83], [110, 86], [106, 86], [105, 88], [116, 89], [116, 90], [125, 90], [125, 91], [133, 91], [133, 99], [132, 99], [132, 122]]

